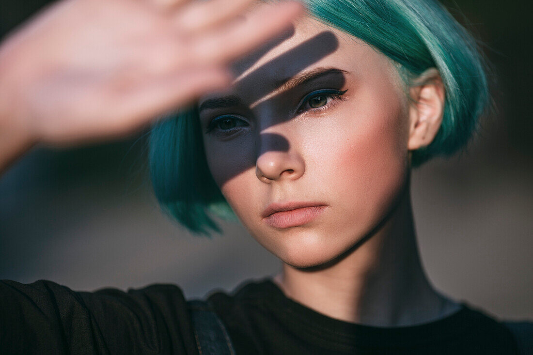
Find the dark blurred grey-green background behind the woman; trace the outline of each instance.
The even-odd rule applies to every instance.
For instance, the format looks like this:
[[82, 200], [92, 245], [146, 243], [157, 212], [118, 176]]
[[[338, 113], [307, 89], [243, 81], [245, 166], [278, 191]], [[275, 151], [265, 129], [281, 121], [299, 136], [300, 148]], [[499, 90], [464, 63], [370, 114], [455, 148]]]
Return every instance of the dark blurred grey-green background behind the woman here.
[[[0, 35], [46, 3], [2, 0]], [[464, 154], [413, 172], [423, 263], [456, 300], [498, 318], [532, 320], [530, 12], [525, 0], [445, 4], [483, 43], [496, 112]], [[238, 224], [197, 238], [163, 215], [145, 141], [146, 132], [90, 147], [37, 147], [0, 176], [0, 279], [50, 279], [87, 291], [176, 283], [196, 297], [280, 270]]]

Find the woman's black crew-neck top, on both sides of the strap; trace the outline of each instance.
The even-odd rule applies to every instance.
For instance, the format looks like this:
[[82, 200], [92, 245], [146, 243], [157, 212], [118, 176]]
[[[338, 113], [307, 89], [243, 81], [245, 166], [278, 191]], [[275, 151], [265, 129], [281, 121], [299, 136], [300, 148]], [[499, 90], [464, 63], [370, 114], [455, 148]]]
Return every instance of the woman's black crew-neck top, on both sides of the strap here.
[[[329, 318], [285, 297], [266, 279], [209, 298], [237, 354], [516, 354], [512, 334], [462, 304], [409, 327]], [[50, 281], [0, 281], [0, 353], [197, 355], [181, 289], [74, 292]]]

